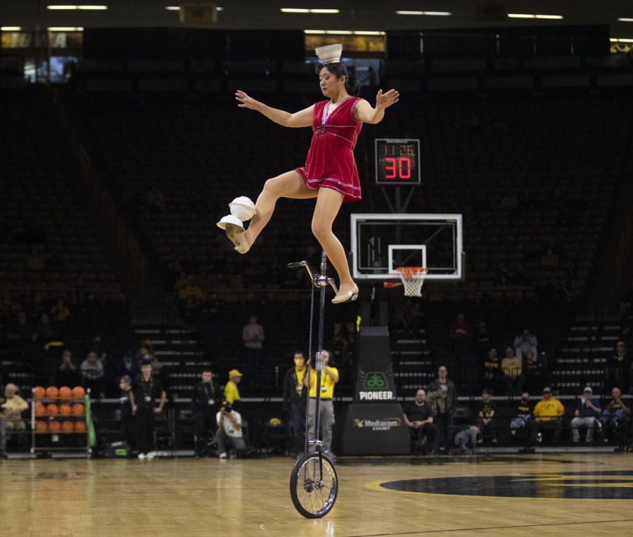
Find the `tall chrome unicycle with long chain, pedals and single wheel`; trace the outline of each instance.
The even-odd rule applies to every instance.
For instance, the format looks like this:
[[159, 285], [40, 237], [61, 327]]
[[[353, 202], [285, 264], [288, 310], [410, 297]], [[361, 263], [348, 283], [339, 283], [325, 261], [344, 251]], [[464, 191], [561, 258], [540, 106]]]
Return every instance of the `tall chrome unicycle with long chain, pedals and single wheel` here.
[[320, 291], [319, 327], [317, 350], [314, 355], [316, 369], [316, 400], [314, 405], [314, 431], [316, 438], [309, 438], [309, 404], [306, 405], [305, 453], [295, 462], [290, 474], [290, 498], [295, 509], [306, 518], [324, 517], [331, 511], [338, 495], [338, 476], [332, 460], [323, 453], [323, 443], [319, 440], [319, 405], [321, 403], [321, 374], [324, 368], [323, 359], [323, 325], [325, 312], [325, 291], [329, 285], [337, 292], [332, 278], [326, 275], [327, 258], [321, 253], [321, 274], [312, 274], [306, 261], [289, 263], [289, 268], [305, 267], [312, 282], [310, 300], [310, 334], [308, 343], [307, 390], [310, 389], [310, 370], [312, 368], [312, 326], [314, 321], [314, 289]]

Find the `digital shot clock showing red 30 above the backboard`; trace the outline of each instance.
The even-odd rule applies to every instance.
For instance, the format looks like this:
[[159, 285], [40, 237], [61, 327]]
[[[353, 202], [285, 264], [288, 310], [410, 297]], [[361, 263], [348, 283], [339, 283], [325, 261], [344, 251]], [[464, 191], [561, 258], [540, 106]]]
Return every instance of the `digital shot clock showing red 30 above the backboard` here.
[[420, 184], [420, 141], [376, 139], [376, 184]]

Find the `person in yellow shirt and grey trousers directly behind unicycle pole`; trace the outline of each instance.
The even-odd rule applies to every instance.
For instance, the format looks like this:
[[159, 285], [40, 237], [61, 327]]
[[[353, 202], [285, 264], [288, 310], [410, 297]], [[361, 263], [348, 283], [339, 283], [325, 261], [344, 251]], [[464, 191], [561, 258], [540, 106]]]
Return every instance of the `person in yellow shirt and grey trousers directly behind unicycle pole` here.
[[[338, 369], [331, 367], [328, 362], [331, 360], [329, 350], [323, 350], [324, 368], [321, 374], [321, 403], [319, 403], [319, 422], [323, 431], [323, 449], [326, 455], [333, 457], [332, 453], [332, 430], [334, 428], [334, 385], [338, 382]], [[307, 384], [307, 376], [304, 379]], [[308, 430], [309, 439], [314, 440], [314, 410], [316, 408], [316, 369], [310, 367], [310, 393], [309, 393], [309, 418]]]

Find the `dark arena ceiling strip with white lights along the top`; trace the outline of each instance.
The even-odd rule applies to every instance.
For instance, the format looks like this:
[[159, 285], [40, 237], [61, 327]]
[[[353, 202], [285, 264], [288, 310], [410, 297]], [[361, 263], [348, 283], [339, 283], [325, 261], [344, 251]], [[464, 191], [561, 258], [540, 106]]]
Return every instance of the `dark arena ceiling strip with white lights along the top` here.
[[[184, 27], [179, 11], [167, 10], [167, 6], [177, 8], [178, 0], [82, 1], [108, 8], [51, 10], [47, 6], [66, 5], [65, 1], [2, 0], [0, 26], [26, 31], [47, 27]], [[385, 31], [597, 23], [608, 24], [611, 37], [633, 37], [633, 0], [214, 0], [203, 4], [217, 6], [217, 22], [208, 27], [218, 29]], [[284, 13], [281, 8], [326, 8], [338, 13]], [[437, 12], [449, 15], [433, 14]], [[511, 18], [509, 13], [563, 18]]]

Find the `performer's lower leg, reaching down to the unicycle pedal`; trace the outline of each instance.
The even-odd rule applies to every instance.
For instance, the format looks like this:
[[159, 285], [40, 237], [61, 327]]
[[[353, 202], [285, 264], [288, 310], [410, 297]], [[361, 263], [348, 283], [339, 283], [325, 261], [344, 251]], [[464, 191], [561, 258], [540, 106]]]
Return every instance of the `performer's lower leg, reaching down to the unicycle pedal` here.
[[332, 232], [332, 224], [342, 204], [343, 194], [333, 189], [321, 188], [319, 196], [316, 198], [316, 207], [312, 216], [312, 233], [338, 273], [340, 279], [338, 293], [340, 295], [347, 293], [354, 286], [345, 249]]

